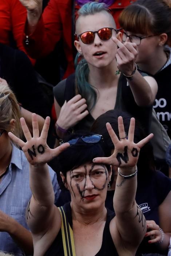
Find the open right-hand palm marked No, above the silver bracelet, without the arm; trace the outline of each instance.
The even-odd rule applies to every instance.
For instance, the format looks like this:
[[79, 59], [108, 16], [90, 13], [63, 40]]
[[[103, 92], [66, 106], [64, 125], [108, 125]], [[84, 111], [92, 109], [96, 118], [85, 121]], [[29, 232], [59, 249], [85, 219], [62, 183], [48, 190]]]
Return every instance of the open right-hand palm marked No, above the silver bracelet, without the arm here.
[[140, 148], [142, 148], [153, 137], [153, 134], [151, 133], [146, 138], [141, 140], [139, 143], [135, 144], [135, 118], [131, 118], [128, 138], [126, 137], [126, 133], [124, 131], [123, 119], [121, 116], [118, 117], [118, 129], [120, 140], [116, 136], [110, 123], [107, 123], [106, 127], [111, 137], [111, 140], [114, 143], [114, 153], [110, 157], [98, 157], [95, 158], [93, 161], [95, 163], [104, 163], [126, 169], [134, 167], [138, 161]]

